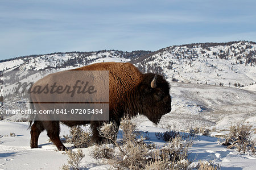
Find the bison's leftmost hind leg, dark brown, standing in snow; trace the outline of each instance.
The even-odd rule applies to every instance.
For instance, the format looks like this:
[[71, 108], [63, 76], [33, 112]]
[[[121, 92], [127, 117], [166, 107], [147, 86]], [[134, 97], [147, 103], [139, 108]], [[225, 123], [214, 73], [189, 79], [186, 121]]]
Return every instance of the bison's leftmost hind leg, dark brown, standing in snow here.
[[38, 148], [38, 138], [42, 131], [44, 131], [42, 122], [35, 121], [31, 126], [31, 131], [30, 131], [30, 135], [31, 135], [30, 148]]

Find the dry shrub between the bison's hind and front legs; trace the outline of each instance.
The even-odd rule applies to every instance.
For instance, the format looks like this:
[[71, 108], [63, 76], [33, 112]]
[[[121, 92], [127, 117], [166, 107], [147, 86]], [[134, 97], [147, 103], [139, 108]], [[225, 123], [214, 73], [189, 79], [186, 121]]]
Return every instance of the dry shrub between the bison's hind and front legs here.
[[66, 142], [74, 144], [75, 148], [86, 148], [91, 145], [90, 133], [84, 131], [80, 126], [71, 127], [70, 136], [63, 135]]

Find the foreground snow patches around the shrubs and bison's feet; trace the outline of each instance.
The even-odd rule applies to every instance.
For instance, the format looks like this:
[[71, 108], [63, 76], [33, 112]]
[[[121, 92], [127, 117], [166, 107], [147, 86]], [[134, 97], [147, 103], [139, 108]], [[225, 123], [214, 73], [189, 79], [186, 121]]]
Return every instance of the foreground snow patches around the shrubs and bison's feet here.
[[[30, 133], [26, 122], [0, 122], [0, 169], [59, 169], [67, 164], [68, 156], [56, 151], [52, 143], [48, 143], [46, 132], [39, 137], [39, 148], [30, 149]], [[154, 133], [164, 131], [163, 128], [152, 126], [138, 126], [138, 130], [147, 129], [150, 141], [163, 146], [164, 142], [155, 138]], [[16, 136], [11, 137], [10, 132]], [[68, 133], [67, 126], [61, 126], [61, 135]], [[5, 136], [9, 135], [9, 136]], [[67, 144], [65, 144], [67, 145]], [[81, 167], [87, 169], [108, 169], [109, 165], [100, 164], [98, 160], [90, 157], [93, 147], [83, 148], [85, 154], [81, 161]], [[76, 149], [75, 149], [76, 151]], [[194, 161], [212, 160], [221, 163], [221, 169], [241, 168], [254, 169], [256, 157], [241, 155], [235, 150], [229, 150], [218, 144], [218, 139], [210, 136], [199, 136], [189, 150], [189, 159]]]

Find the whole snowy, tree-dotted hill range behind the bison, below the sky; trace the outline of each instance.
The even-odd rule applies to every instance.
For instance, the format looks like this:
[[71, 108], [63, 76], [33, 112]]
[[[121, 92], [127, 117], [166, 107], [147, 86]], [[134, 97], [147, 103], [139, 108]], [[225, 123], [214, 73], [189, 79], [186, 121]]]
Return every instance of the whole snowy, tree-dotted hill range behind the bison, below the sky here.
[[98, 62], [131, 62], [142, 72], [163, 74], [172, 81], [223, 86], [256, 82], [254, 42], [175, 45], [159, 51], [98, 51], [32, 55], [0, 61], [0, 71], [82, 67]]

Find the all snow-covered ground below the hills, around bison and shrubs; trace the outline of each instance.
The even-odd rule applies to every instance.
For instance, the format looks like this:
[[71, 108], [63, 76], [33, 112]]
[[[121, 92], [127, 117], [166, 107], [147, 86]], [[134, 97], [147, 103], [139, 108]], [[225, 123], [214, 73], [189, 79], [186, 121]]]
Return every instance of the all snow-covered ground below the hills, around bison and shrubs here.
[[[218, 144], [218, 138], [228, 133], [233, 122], [245, 119], [256, 128], [256, 93], [249, 90], [214, 85], [185, 84], [171, 82], [172, 111], [154, 125], [146, 117], [133, 119], [139, 131], [148, 131], [149, 141], [163, 146], [164, 142], [155, 137], [155, 132], [171, 127], [186, 131], [190, 127], [215, 129], [212, 136], [199, 136], [189, 150], [191, 161], [212, 160], [220, 163], [221, 169], [254, 169], [256, 157], [239, 154]], [[39, 148], [30, 149], [30, 131], [26, 122], [0, 121], [0, 169], [59, 169], [67, 164], [68, 156], [56, 151], [48, 142], [44, 131], [39, 137]], [[10, 132], [16, 134], [10, 136]], [[61, 125], [61, 135], [69, 134], [69, 128]], [[8, 135], [8, 136], [6, 136]], [[254, 138], [256, 136], [254, 135]], [[69, 144], [65, 144], [71, 147]], [[108, 169], [92, 159], [92, 147], [82, 149], [85, 158], [81, 166], [85, 169]]]

